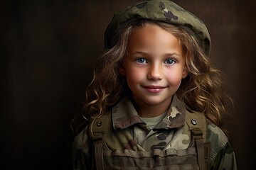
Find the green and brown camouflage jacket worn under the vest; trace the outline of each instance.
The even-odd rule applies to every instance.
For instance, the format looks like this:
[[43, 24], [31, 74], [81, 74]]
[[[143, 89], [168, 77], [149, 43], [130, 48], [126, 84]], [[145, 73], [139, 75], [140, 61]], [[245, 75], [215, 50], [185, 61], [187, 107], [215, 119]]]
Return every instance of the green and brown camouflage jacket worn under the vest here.
[[[165, 118], [152, 130], [147, 130], [145, 123], [139, 118], [132, 102], [124, 98], [117, 106], [112, 108], [112, 114], [109, 113], [109, 115], [112, 115], [112, 120], [110, 121], [112, 125], [108, 125], [108, 127], [110, 127], [109, 131], [112, 132], [108, 139], [112, 140], [104, 141], [104, 159], [107, 159], [105, 162], [110, 162], [110, 164], [117, 163], [117, 166], [119, 166], [119, 168], [115, 166], [117, 169], [129, 169], [127, 164], [131, 162], [130, 158], [132, 157], [136, 159], [135, 163], [133, 163], [133, 169], [139, 169], [138, 167], [142, 162], [147, 162], [146, 166], [143, 165], [143, 167], [148, 169], [153, 169], [155, 166], [161, 166], [159, 169], [199, 169], [198, 166], [194, 165], [183, 166], [181, 165], [182, 161], [180, 161], [181, 158], [186, 159], [186, 162], [193, 162], [193, 157], [186, 157], [186, 155], [193, 154], [193, 152], [195, 152], [195, 155], [199, 155], [197, 153], [198, 149], [194, 149], [197, 143], [194, 142], [194, 137], [191, 135], [191, 128], [187, 123], [189, 114], [191, 113], [186, 111], [183, 103], [174, 96]], [[192, 123], [193, 121], [196, 120], [192, 120]], [[99, 121], [95, 123], [95, 125], [101, 123], [104, 123], [104, 121]], [[210, 147], [208, 147], [209, 154], [208, 160], [206, 161], [206, 168], [237, 169], [235, 154], [228, 142], [228, 137], [209, 120], [206, 120], [206, 124], [205, 130], [203, 130], [203, 140], [205, 146], [206, 144], [210, 145]], [[138, 145], [134, 140], [134, 134], [138, 127], [144, 129], [147, 134], [141, 145]], [[95, 162], [94, 156], [102, 153], [96, 150], [95, 153], [93, 152], [91, 133], [92, 128], [88, 125], [85, 130], [82, 130], [82, 132], [75, 137], [73, 145], [73, 169], [95, 169], [95, 167], [92, 167], [92, 162]], [[206, 153], [206, 151], [204, 152]], [[156, 156], [159, 159], [166, 157], [166, 155], [168, 159], [165, 159], [164, 165], [162, 163], [156, 163]], [[174, 159], [174, 155], [178, 157], [178, 159]], [[117, 156], [125, 156], [126, 158], [118, 159]], [[171, 156], [171, 158], [169, 156]], [[129, 159], [127, 159], [127, 157], [129, 157]], [[139, 159], [139, 157], [142, 159]], [[151, 160], [151, 158], [153, 158], [153, 160]], [[139, 159], [139, 161], [137, 159]], [[99, 164], [97, 161], [98, 160], [96, 160], [96, 164]], [[167, 166], [166, 164], [169, 164], [168, 162], [175, 162], [175, 165], [170, 163], [171, 165]]]

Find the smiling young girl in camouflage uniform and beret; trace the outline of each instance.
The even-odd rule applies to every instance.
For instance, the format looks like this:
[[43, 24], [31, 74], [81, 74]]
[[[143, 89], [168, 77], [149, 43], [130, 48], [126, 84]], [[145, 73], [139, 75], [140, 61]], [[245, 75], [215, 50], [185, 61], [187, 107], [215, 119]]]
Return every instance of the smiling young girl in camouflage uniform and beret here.
[[210, 36], [166, 0], [114, 15], [87, 89], [74, 169], [236, 169]]

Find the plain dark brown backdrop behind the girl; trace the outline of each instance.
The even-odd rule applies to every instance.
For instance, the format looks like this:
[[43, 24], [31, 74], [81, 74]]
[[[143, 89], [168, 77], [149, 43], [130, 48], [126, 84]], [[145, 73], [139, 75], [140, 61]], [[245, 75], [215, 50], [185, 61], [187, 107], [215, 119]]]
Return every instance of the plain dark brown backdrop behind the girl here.
[[[114, 11], [138, 1], [0, 2], [0, 169], [71, 169], [69, 123], [80, 111]], [[199, 16], [234, 98], [225, 121], [239, 169], [255, 152], [256, 1], [176, 0]]]

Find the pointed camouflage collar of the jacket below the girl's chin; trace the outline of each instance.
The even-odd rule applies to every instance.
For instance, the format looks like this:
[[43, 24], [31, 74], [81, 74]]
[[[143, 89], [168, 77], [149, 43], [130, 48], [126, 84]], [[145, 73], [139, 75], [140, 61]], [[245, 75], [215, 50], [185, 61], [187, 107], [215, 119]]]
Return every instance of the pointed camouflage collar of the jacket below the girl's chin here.
[[[123, 98], [112, 108], [112, 121], [114, 129], [128, 128], [137, 123], [144, 123], [128, 98]], [[181, 128], [185, 125], [186, 108], [174, 94], [166, 117], [154, 129]]]

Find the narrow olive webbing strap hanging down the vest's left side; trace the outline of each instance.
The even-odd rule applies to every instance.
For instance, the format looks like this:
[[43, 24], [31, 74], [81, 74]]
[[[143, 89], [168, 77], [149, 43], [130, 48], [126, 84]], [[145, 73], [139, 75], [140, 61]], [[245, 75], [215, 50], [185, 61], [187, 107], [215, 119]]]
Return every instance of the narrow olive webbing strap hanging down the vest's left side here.
[[103, 149], [102, 149], [102, 140], [96, 140], [95, 144], [95, 163], [97, 170], [104, 170], [103, 166]]

